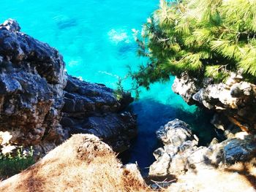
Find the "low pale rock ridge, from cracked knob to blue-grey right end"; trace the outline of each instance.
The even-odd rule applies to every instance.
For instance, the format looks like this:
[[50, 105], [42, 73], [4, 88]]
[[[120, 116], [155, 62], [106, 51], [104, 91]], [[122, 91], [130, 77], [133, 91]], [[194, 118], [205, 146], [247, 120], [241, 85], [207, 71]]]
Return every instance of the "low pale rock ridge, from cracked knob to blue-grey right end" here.
[[241, 138], [216, 139], [208, 147], [197, 146], [198, 139], [181, 120], [173, 120], [157, 131], [164, 147], [154, 151], [157, 161], [150, 166], [150, 175], [181, 174], [212, 169], [239, 161], [249, 161], [256, 155], [256, 137], [250, 134]]

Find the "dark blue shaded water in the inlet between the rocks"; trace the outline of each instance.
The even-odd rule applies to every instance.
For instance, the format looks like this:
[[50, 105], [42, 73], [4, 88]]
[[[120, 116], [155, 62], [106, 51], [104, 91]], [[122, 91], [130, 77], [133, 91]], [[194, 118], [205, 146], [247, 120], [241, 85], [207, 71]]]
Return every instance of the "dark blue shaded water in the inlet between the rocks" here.
[[211, 112], [197, 110], [187, 112], [180, 107], [161, 104], [153, 99], [141, 99], [134, 102], [131, 110], [138, 115], [138, 137], [132, 140], [129, 150], [119, 155], [124, 164], [137, 162], [143, 175], [148, 174], [148, 167], [155, 161], [153, 152], [161, 144], [156, 131], [168, 121], [178, 118], [188, 123], [200, 139], [199, 145], [207, 145], [217, 137], [211, 125]]

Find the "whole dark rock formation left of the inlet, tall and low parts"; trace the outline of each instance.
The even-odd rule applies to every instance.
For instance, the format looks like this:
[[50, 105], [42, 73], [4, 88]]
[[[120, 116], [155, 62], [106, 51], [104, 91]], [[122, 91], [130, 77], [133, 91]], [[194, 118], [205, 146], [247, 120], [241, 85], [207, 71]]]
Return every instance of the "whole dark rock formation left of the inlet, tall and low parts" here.
[[67, 76], [64, 68], [58, 50], [20, 32], [15, 20], [1, 24], [0, 131], [10, 132], [12, 144], [41, 153], [78, 132], [126, 149], [136, 133], [135, 116], [121, 110], [131, 96], [118, 101], [112, 89]]

